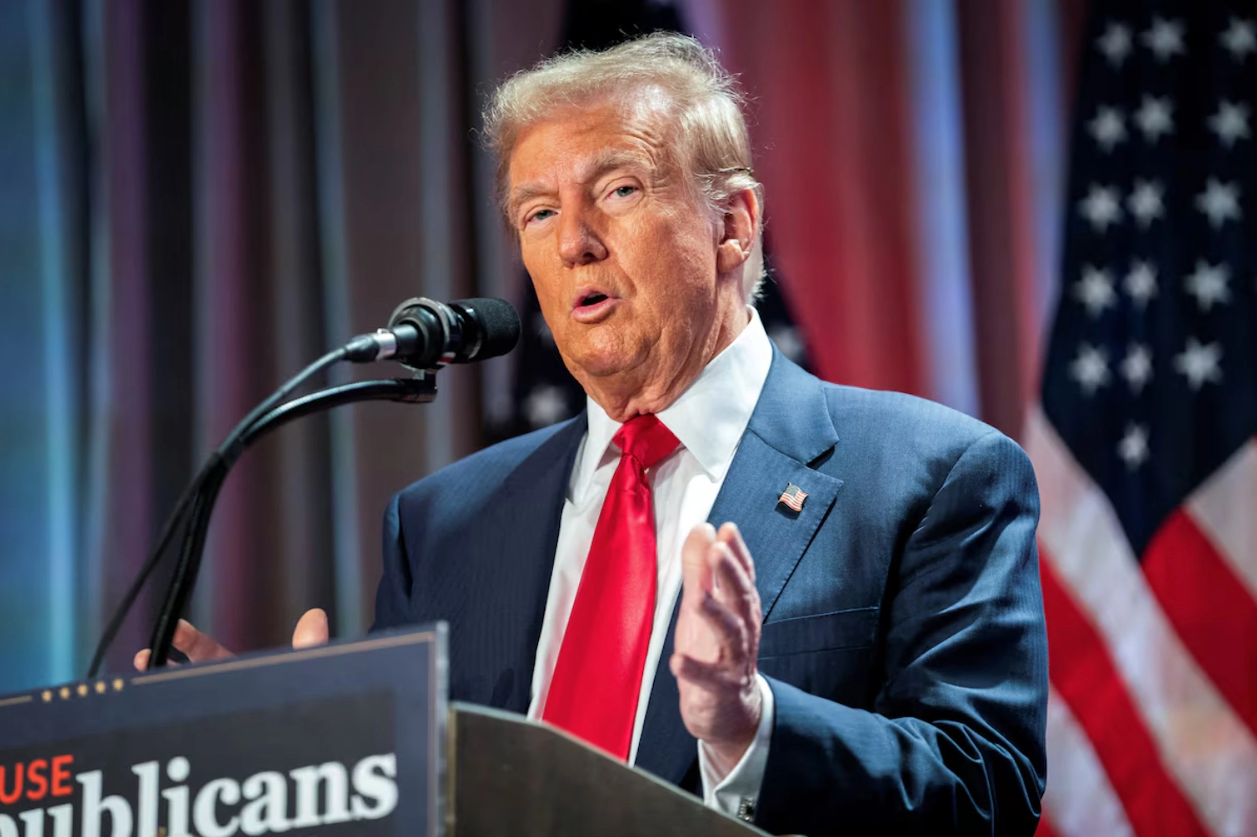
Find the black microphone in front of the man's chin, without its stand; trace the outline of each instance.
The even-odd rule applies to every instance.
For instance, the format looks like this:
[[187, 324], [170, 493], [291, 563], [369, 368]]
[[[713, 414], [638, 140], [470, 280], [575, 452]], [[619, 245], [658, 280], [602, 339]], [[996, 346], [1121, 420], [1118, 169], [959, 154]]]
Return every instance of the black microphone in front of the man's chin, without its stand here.
[[347, 359], [392, 358], [414, 369], [471, 363], [505, 354], [519, 342], [519, 314], [505, 299], [436, 302], [414, 297], [397, 305], [388, 328], [346, 344]]

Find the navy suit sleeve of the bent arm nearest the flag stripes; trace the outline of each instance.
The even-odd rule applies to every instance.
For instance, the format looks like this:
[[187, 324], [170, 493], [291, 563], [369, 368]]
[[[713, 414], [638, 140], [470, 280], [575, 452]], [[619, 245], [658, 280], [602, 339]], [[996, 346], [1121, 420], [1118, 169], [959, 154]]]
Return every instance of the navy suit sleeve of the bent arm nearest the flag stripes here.
[[1002, 434], [955, 461], [891, 566], [872, 711], [769, 680], [774, 833], [1032, 834], [1047, 764], [1038, 491]]

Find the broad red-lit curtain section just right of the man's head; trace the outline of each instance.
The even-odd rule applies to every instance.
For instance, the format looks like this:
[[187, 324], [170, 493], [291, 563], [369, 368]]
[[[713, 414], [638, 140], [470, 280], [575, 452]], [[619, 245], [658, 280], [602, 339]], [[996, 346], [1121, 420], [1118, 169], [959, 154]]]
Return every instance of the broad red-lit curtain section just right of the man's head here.
[[768, 232], [818, 375], [925, 392], [901, 4], [727, 6]]

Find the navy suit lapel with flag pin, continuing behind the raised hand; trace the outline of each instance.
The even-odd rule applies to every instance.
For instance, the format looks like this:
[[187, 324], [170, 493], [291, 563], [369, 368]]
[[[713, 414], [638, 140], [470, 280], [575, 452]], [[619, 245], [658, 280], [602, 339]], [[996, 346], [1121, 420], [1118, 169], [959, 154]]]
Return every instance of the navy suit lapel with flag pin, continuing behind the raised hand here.
[[[842, 480], [808, 468], [836, 442], [821, 382], [774, 348], [764, 390], [708, 517], [718, 528], [732, 520], [742, 530], [755, 562], [764, 617], [842, 486]], [[807, 494], [798, 513], [777, 503], [789, 484]], [[681, 721], [680, 694], [667, 666], [679, 607], [678, 601], [637, 748], [637, 767], [678, 784], [695, 759], [695, 739]]]

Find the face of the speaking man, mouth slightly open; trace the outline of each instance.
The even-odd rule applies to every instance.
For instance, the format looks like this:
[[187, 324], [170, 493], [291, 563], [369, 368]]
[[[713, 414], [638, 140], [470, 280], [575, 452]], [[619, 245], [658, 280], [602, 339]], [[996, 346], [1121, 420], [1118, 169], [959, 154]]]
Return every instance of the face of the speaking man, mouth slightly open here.
[[745, 320], [739, 274], [718, 275], [718, 226], [669, 155], [671, 132], [650, 104], [564, 109], [510, 157], [508, 211], [542, 314], [612, 413], [600, 395], [628, 397], [630, 415], [667, 406], [652, 402], [675, 398], [740, 328], [730, 312]]

